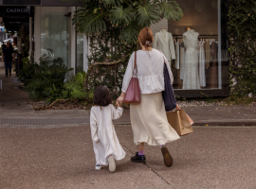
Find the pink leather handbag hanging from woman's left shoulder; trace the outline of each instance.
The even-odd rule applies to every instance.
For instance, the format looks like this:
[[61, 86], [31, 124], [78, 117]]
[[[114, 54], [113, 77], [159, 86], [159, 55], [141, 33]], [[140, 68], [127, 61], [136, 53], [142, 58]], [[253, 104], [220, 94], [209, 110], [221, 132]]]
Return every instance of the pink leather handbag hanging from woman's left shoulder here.
[[136, 77], [132, 77], [126, 94], [123, 98], [123, 103], [125, 104], [139, 104], [140, 103], [140, 88], [137, 79], [137, 51], [135, 52], [135, 68]]

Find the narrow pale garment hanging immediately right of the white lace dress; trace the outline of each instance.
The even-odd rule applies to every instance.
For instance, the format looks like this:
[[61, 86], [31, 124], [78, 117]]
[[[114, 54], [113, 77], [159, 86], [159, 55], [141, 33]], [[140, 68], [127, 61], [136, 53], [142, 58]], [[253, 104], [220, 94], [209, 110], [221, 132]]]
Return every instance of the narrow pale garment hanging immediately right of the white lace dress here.
[[199, 81], [200, 86], [205, 87], [206, 86], [206, 73], [205, 73], [205, 65], [206, 65], [206, 59], [205, 59], [205, 50], [204, 50], [204, 42], [199, 42]]

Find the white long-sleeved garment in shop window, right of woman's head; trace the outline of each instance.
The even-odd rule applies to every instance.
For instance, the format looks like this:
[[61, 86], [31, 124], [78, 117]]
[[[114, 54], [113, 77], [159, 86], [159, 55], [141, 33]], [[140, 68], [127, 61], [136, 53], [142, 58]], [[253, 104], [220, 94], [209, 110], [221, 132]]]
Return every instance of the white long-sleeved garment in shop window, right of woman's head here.
[[165, 29], [161, 29], [159, 32], [155, 33], [153, 47], [164, 54], [169, 64], [171, 64], [171, 60], [176, 59], [173, 35]]

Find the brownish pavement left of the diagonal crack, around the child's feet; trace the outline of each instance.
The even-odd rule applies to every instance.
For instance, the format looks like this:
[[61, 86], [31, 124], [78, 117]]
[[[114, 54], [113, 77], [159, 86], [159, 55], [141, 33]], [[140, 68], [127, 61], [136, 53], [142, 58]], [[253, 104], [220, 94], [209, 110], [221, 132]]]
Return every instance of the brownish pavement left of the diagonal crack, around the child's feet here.
[[114, 173], [94, 170], [88, 126], [65, 129], [0, 129], [0, 188], [172, 188], [144, 164], [117, 163]]

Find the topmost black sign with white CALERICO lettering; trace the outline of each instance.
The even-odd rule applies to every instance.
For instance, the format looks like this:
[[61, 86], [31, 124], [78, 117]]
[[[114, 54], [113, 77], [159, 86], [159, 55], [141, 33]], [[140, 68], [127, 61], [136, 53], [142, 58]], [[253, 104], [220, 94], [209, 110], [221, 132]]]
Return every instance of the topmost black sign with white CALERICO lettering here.
[[27, 17], [30, 16], [30, 7], [2, 7], [4, 16]]

